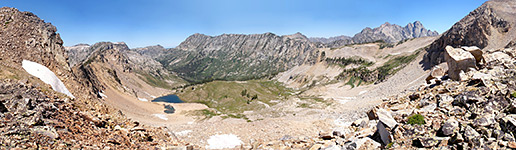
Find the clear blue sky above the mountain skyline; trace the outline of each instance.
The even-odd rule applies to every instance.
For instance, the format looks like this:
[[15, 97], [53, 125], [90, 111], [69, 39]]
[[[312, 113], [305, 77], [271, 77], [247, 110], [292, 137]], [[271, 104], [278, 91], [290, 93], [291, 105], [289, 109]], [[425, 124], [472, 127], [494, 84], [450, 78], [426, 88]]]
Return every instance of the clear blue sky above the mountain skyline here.
[[485, 0], [1, 0], [57, 27], [65, 46], [99, 41], [175, 47], [194, 33], [353, 36], [419, 20], [442, 33]]

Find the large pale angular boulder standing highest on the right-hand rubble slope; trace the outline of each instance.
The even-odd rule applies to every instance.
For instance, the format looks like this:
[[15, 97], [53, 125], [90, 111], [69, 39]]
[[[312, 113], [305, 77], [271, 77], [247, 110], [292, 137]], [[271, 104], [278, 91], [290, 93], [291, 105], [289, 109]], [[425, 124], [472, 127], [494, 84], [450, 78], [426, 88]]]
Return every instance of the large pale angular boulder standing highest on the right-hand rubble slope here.
[[460, 72], [467, 72], [470, 68], [476, 68], [475, 57], [461, 48], [446, 46], [444, 58], [448, 64], [448, 76], [452, 80], [460, 80]]

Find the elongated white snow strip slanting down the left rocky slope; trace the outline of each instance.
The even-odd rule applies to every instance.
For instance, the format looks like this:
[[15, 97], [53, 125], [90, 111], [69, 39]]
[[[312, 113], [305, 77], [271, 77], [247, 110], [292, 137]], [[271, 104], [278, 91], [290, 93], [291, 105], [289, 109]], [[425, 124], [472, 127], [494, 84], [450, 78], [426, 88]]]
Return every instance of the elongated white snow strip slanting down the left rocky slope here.
[[57, 78], [54, 72], [52, 72], [47, 67], [29, 60], [23, 60], [22, 67], [23, 69], [25, 69], [25, 71], [27, 71], [27, 73], [38, 77], [41, 81], [45, 82], [46, 84], [50, 84], [54, 91], [66, 94], [71, 98], [75, 98], [72, 95], [72, 93], [70, 93], [70, 91], [66, 89], [63, 82], [61, 82], [61, 80]]

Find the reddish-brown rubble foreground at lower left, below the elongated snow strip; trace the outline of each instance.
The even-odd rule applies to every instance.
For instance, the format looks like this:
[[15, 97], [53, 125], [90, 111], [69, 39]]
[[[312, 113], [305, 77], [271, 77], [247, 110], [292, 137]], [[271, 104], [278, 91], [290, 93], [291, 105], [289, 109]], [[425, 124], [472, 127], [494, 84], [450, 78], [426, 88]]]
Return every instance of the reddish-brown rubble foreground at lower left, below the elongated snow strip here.
[[180, 144], [164, 129], [81, 111], [73, 99], [30, 83], [0, 81], [0, 101], [2, 149], [151, 149]]

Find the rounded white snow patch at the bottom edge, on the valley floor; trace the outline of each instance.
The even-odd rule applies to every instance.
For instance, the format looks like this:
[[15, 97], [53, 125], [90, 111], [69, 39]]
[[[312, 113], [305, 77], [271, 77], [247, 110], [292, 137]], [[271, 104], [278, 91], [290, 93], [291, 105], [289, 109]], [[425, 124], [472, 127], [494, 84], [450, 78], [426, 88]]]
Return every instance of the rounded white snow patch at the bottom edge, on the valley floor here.
[[233, 134], [212, 135], [207, 142], [207, 149], [235, 148], [243, 143], [236, 135]]

